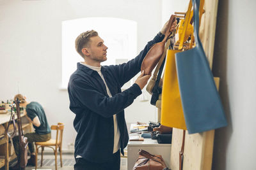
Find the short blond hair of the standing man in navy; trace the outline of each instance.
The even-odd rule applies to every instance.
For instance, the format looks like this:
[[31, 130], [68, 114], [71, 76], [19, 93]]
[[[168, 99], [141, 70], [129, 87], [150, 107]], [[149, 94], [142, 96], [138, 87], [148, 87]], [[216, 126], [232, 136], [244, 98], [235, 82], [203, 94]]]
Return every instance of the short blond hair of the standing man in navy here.
[[98, 36], [98, 32], [91, 30], [91, 31], [86, 31], [81, 33], [79, 36], [76, 38], [76, 51], [79, 53], [83, 58], [84, 54], [82, 53], [82, 49], [84, 47], [90, 46], [90, 38], [93, 36]]

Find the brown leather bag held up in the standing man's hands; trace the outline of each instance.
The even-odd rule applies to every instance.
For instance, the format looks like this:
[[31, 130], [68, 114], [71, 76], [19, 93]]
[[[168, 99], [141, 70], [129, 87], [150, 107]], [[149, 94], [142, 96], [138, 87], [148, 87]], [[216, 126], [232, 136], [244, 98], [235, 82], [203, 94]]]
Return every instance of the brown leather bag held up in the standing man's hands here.
[[170, 17], [166, 32], [164, 34], [163, 41], [156, 43], [154, 46], [152, 46], [152, 48], [150, 48], [150, 50], [148, 50], [147, 55], [143, 59], [142, 64], [141, 64], [141, 71], [144, 70], [146, 75], [151, 74], [152, 70], [154, 69], [154, 67], [156, 67], [156, 64], [161, 59], [161, 56], [164, 53], [164, 45], [166, 43], [166, 40], [170, 36], [170, 28], [171, 28], [173, 22], [175, 22], [175, 15], [172, 15]]

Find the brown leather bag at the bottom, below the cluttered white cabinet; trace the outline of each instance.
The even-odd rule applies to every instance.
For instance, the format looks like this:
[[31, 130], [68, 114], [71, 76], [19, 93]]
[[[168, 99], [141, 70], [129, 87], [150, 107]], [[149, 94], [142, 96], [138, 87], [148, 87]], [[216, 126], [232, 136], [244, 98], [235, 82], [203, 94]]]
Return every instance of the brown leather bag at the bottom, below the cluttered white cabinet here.
[[152, 155], [145, 150], [139, 150], [139, 158], [132, 170], [163, 170], [166, 167], [161, 155]]

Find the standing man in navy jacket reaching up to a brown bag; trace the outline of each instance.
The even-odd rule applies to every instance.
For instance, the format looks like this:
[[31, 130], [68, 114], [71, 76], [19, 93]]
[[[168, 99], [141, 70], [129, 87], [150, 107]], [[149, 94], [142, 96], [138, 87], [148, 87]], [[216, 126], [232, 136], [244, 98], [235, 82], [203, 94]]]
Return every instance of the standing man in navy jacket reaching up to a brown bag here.
[[140, 96], [150, 75], [142, 71], [129, 89], [122, 92], [121, 87], [140, 72], [150, 47], [164, 38], [166, 25], [137, 57], [116, 66], [100, 65], [107, 60], [108, 47], [96, 31], [83, 32], [76, 38], [76, 50], [84, 62], [77, 63], [68, 83], [70, 110], [76, 114], [74, 169], [120, 169], [120, 152], [124, 155], [129, 140], [124, 109]]

